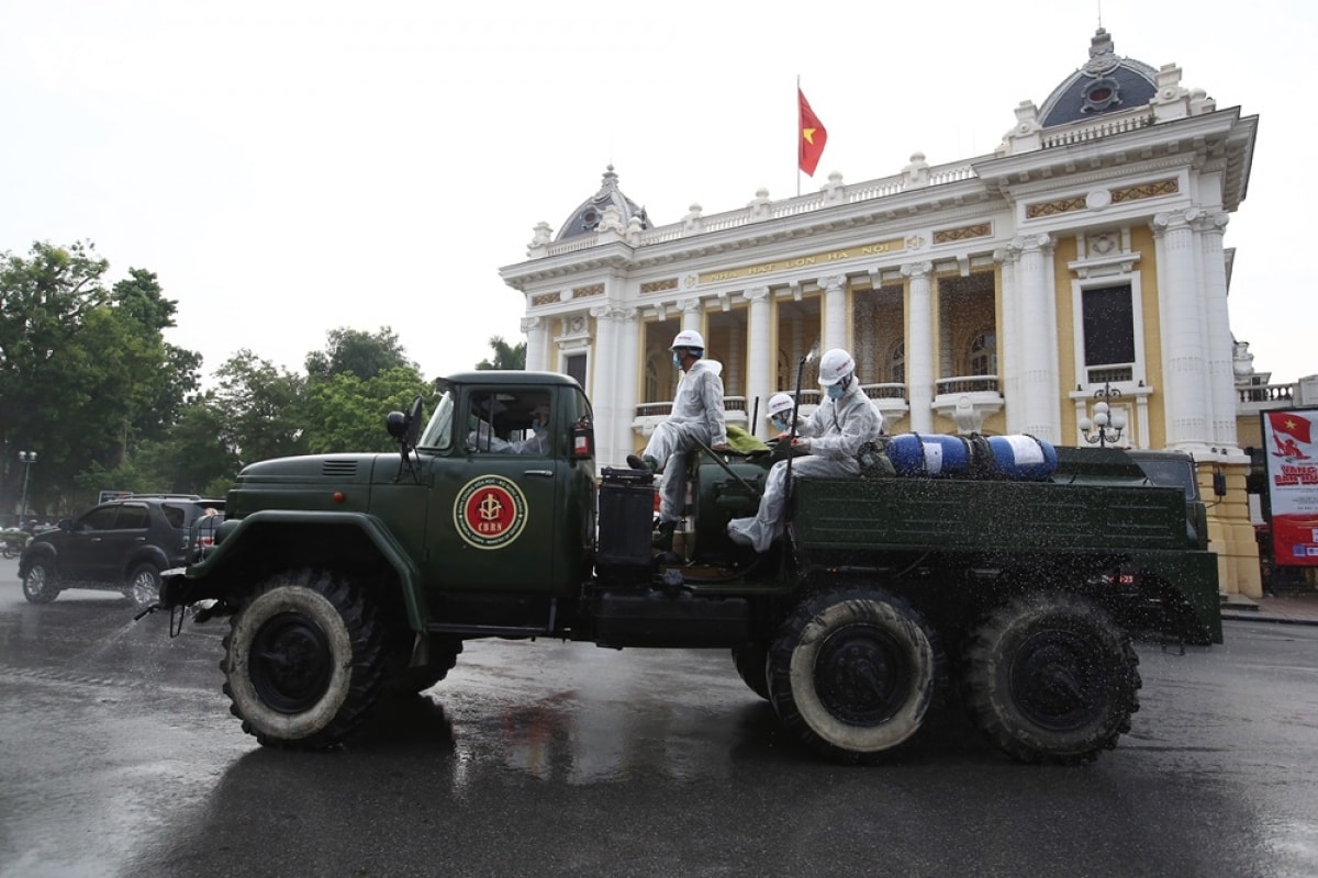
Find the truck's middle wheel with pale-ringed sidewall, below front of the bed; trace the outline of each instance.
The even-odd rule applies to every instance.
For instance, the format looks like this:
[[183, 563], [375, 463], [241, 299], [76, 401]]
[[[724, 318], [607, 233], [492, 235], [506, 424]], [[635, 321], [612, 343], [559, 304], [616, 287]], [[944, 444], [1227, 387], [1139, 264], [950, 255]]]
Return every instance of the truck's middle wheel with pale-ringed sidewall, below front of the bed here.
[[768, 653], [768, 688], [788, 733], [840, 762], [874, 762], [916, 733], [940, 675], [920, 616], [878, 588], [804, 600]]

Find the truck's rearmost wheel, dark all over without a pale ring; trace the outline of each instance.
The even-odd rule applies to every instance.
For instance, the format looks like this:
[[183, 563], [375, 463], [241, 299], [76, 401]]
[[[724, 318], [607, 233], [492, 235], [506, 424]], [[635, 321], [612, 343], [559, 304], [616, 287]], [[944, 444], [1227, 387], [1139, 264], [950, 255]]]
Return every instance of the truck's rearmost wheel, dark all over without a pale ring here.
[[1140, 708], [1130, 636], [1075, 595], [1017, 598], [970, 637], [962, 688], [970, 720], [1019, 762], [1091, 762]]

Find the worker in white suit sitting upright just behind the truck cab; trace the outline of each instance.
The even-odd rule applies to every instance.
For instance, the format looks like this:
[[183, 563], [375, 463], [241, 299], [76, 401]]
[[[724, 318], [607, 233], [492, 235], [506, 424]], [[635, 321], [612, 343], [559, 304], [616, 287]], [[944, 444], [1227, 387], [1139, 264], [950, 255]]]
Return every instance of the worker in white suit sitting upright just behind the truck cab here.
[[679, 332], [670, 350], [672, 365], [681, 370], [672, 412], [655, 426], [639, 457], [627, 455], [627, 466], [634, 470], [663, 473], [655, 537], [655, 545], [662, 549], [672, 548], [672, 533], [681, 519], [687, 502], [687, 462], [696, 440], [716, 452], [728, 450], [722, 363], [705, 359], [705, 338], [693, 329]]

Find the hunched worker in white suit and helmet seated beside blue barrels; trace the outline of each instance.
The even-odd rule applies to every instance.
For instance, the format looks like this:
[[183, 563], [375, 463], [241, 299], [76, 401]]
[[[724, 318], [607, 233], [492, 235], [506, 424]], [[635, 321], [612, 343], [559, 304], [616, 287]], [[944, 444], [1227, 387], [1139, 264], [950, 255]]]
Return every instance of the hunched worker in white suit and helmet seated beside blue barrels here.
[[[861, 474], [857, 454], [861, 446], [879, 437], [883, 421], [870, 404], [870, 398], [861, 390], [851, 354], [841, 348], [825, 353], [820, 358], [820, 384], [824, 387], [824, 401], [805, 419], [795, 436], [791, 432], [780, 436], [779, 449], [775, 450], [775, 454], [804, 452], [805, 457], [774, 463], [764, 482], [759, 511], [753, 517], [728, 523], [728, 536], [733, 542], [764, 552], [782, 534], [788, 463], [793, 479]], [[772, 408], [772, 401], [770, 407]], [[784, 416], [787, 426], [791, 426], [787, 423], [789, 420], [788, 411]]]

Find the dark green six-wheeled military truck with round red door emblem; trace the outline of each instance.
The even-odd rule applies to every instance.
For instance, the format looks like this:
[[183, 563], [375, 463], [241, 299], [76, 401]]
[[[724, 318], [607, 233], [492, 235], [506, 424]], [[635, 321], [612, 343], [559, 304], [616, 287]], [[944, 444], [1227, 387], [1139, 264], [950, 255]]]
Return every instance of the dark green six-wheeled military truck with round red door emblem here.
[[1077, 763], [1130, 731], [1132, 636], [1222, 640], [1184, 492], [1112, 449], [1035, 480], [799, 480], [758, 555], [725, 528], [771, 454], [697, 455], [677, 550], [656, 552], [652, 477], [597, 471], [576, 380], [453, 375], [422, 424], [418, 399], [386, 419], [397, 453], [248, 466], [214, 548], [165, 577], [171, 633], [188, 607], [228, 619], [224, 691], [261, 744], [332, 748], [467, 640], [543, 637], [729, 650], [793, 738], [842, 762], [946, 702], [1015, 760]]

